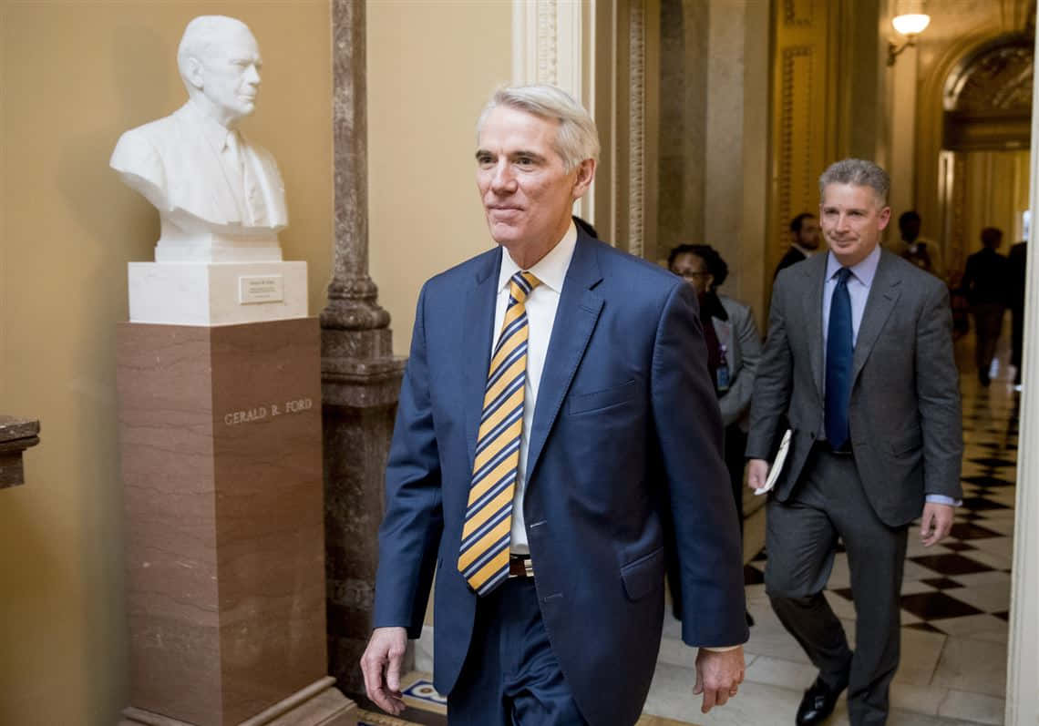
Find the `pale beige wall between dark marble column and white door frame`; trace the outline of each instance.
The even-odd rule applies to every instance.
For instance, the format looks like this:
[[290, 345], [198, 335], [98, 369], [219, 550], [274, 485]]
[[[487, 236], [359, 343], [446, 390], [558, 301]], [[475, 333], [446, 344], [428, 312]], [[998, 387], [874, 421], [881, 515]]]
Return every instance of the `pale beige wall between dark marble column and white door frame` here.
[[476, 117], [511, 75], [511, 3], [370, 0], [371, 274], [407, 354], [432, 275], [490, 247], [476, 191]]

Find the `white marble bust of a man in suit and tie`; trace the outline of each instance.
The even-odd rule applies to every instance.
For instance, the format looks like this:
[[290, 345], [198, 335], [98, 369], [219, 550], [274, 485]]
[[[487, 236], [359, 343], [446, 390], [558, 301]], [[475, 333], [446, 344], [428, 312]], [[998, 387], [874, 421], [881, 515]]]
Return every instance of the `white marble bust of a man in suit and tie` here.
[[273, 157], [238, 130], [260, 89], [256, 38], [234, 18], [202, 16], [184, 30], [177, 62], [188, 102], [124, 133], [110, 162], [159, 210], [156, 260], [214, 260], [216, 247], [231, 250], [227, 259], [279, 260], [285, 184]]

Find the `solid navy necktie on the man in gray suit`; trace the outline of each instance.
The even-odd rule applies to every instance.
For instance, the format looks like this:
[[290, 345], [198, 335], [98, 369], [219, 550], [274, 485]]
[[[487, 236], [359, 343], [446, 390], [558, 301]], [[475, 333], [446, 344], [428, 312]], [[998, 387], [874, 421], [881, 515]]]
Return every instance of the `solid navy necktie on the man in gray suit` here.
[[851, 270], [837, 271], [837, 285], [830, 298], [830, 322], [826, 333], [826, 439], [834, 449], [848, 441], [848, 403], [851, 400]]

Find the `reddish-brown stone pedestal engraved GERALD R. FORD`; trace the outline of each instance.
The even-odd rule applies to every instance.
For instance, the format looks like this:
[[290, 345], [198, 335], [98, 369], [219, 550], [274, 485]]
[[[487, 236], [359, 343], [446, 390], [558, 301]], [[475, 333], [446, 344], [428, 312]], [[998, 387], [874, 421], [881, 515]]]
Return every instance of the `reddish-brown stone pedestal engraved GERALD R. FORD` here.
[[326, 677], [319, 356], [314, 318], [119, 325], [130, 723], [355, 722]]

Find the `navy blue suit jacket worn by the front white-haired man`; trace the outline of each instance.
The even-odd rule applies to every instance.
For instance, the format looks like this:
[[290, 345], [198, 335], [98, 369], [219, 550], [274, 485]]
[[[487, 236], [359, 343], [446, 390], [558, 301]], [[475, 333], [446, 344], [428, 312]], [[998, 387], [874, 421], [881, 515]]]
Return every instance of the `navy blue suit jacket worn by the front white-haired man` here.
[[[435, 566], [443, 694], [469, 651], [477, 604], [456, 562], [502, 253], [423, 287], [387, 468], [374, 624], [418, 637]], [[721, 436], [692, 287], [580, 233], [531, 427], [524, 513], [553, 652], [591, 724], [633, 724], [645, 700], [672, 514], [683, 640], [747, 639]]]

